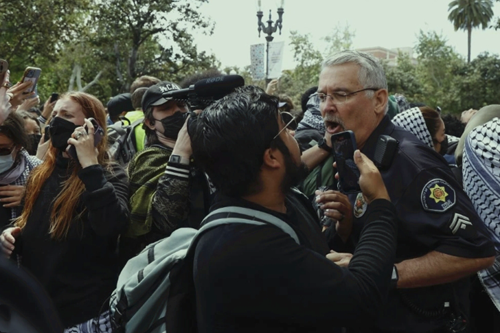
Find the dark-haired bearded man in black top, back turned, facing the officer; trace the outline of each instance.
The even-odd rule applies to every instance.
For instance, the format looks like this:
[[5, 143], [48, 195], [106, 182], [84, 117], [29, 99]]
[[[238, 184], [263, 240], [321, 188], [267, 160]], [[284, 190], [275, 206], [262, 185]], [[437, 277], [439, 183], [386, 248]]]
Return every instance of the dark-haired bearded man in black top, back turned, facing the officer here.
[[[350, 267], [338, 266], [312, 205], [292, 188], [304, 166], [278, 102], [241, 87], [189, 122], [194, 159], [217, 190], [211, 210], [231, 207], [221, 215], [235, 219], [196, 246], [199, 332], [338, 332], [374, 320], [389, 288], [396, 220], [378, 170], [354, 154], [370, 217]], [[253, 223], [236, 223], [241, 214]]]

